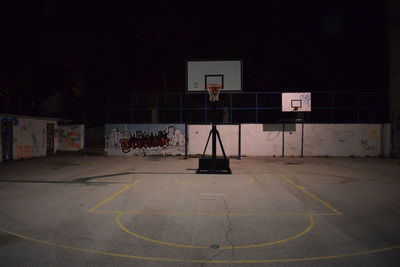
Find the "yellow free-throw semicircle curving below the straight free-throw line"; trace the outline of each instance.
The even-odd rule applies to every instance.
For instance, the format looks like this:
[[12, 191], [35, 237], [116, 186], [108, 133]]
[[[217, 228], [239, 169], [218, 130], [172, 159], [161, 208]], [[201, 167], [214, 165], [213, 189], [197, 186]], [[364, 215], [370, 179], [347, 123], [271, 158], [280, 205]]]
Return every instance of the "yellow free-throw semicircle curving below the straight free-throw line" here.
[[[166, 242], [166, 241], [160, 241], [157, 239], [151, 239], [142, 235], [139, 235], [137, 233], [132, 232], [131, 230], [127, 229], [125, 227], [125, 225], [122, 223], [121, 221], [121, 217], [123, 214], [117, 214], [117, 216], [115, 217], [115, 221], [118, 225], [118, 227], [124, 231], [125, 233], [134, 236], [136, 238], [148, 241], [148, 242], [152, 242], [158, 245], [164, 245], [164, 246], [172, 246], [172, 247], [180, 247], [180, 248], [195, 248], [195, 249], [207, 249], [209, 248], [208, 246], [194, 246], [194, 245], [188, 245], [188, 244], [181, 244], [181, 243], [173, 243], [173, 242]], [[228, 215], [228, 214], [227, 214]], [[277, 245], [277, 244], [282, 244], [285, 242], [288, 242], [290, 240], [294, 240], [297, 238], [300, 238], [302, 236], [304, 236], [305, 234], [307, 234], [308, 232], [310, 232], [312, 230], [312, 228], [314, 227], [314, 219], [313, 216], [308, 215], [308, 225], [306, 227], [305, 230], [303, 230], [301, 233], [298, 233], [296, 235], [281, 239], [281, 240], [277, 240], [277, 241], [273, 241], [273, 242], [268, 242], [268, 243], [261, 243], [261, 244], [253, 244], [253, 245], [244, 245], [244, 246], [221, 246], [219, 249], [220, 250], [229, 250], [229, 249], [247, 249], [247, 248], [260, 248], [260, 247], [266, 247], [266, 246], [272, 246], [272, 245]]]

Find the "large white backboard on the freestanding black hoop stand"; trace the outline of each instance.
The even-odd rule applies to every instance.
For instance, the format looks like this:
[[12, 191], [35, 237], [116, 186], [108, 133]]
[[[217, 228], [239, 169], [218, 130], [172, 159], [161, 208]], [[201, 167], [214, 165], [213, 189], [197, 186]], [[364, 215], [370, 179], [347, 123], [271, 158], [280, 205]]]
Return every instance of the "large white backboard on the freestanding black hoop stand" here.
[[242, 90], [241, 60], [187, 61], [186, 88], [188, 92], [206, 92], [206, 83], [222, 82], [221, 91]]

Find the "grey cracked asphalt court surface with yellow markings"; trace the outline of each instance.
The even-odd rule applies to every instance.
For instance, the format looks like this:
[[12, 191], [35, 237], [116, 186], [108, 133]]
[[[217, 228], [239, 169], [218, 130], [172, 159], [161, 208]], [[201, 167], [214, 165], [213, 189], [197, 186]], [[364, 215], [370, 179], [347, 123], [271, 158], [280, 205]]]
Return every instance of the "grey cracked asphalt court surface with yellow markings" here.
[[0, 163], [3, 266], [400, 266], [400, 161]]

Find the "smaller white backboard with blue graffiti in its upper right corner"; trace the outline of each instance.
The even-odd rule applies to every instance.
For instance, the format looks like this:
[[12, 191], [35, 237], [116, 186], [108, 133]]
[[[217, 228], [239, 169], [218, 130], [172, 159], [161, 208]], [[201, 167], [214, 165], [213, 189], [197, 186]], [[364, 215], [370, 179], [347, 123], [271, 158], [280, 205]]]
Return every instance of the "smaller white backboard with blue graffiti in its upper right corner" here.
[[311, 93], [282, 93], [282, 111], [311, 111]]

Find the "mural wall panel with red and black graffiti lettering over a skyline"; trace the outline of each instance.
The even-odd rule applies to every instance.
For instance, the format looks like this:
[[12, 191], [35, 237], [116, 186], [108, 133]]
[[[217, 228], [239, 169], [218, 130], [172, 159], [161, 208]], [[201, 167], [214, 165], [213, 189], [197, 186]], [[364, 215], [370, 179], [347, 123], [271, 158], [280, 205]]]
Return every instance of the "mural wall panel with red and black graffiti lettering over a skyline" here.
[[183, 155], [184, 124], [106, 124], [107, 155]]

